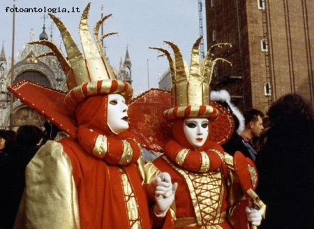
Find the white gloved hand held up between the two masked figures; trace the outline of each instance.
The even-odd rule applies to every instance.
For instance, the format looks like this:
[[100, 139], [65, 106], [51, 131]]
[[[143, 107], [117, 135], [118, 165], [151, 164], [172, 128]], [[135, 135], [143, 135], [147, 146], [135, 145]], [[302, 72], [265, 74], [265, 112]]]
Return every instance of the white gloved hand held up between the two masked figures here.
[[[172, 184], [171, 177], [167, 172], [160, 173], [151, 182], [155, 184], [155, 207], [154, 213], [157, 217], [164, 217], [174, 200], [177, 183]], [[150, 183], [151, 184], [151, 183]]]

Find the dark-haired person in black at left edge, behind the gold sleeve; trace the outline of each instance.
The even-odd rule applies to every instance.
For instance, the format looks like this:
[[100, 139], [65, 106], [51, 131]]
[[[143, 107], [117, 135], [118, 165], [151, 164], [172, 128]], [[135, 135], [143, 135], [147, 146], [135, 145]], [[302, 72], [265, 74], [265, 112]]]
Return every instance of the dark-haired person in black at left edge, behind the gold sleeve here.
[[0, 161], [0, 228], [13, 228], [17, 209], [25, 186], [25, 168], [36, 154], [43, 140], [37, 126], [25, 125], [17, 129], [17, 145], [6, 150]]

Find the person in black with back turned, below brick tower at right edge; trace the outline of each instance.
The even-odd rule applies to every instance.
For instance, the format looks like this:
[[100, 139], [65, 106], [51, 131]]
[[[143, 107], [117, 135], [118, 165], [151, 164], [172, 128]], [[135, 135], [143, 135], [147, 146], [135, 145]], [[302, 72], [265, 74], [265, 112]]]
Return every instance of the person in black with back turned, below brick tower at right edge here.
[[278, 98], [268, 111], [273, 126], [255, 161], [256, 192], [267, 205], [260, 228], [313, 228], [314, 111], [298, 94]]

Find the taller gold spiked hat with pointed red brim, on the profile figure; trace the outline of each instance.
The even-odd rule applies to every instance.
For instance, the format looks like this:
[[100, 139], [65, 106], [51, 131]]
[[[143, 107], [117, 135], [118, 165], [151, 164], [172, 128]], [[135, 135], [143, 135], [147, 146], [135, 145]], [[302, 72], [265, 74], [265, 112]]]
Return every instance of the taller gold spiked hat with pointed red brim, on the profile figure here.
[[75, 109], [77, 105], [89, 96], [100, 94], [121, 94], [126, 101], [133, 95], [133, 89], [127, 82], [117, 80], [117, 77], [107, 62], [101, 41], [107, 36], [117, 34], [112, 32], [98, 37], [98, 31], [101, 24], [111, 17], [106, 15], [100, 19], [94, 27], [94, 40], [89, 32], [87, 24], [89, 8], [91, 3], [87, 4], [80, 19], [80, 39], [82, 42], [82, 50], [75, 43], [75, 40], [66, 28], [65, 24], [59, 18], [50, 14], [52, 20], [57, 24], [61, 33], [64, 46], [66, 48], [67, 57], [48, 40], [40, 40], [31, 44], [40, 44], [50, 47], [52, 52], [47, 52], [39, 57], [54, 55], [58, 58], [63, 72], [66, 74], [66, 82], [68, 85], [68, 93], [45, 87], [35, 82], [22, 80], [17, 84], [8, 87], [17, 98], [29, 108], [37, 110], [40, 114], [51, 121], [52, 124], [65, 131], [71, 136], [77, 134]]

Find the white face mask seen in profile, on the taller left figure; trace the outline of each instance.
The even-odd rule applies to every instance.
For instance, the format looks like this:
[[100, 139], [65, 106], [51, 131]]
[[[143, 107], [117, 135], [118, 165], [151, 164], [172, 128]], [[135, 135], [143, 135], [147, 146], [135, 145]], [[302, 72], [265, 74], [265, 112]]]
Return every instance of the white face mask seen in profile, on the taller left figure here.
[[110, 130], [119, 134], [128, 129], [128, 105], [121, 94], [108, 95], [107, 124]]

